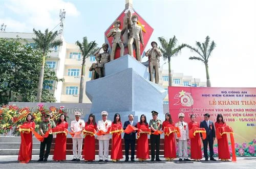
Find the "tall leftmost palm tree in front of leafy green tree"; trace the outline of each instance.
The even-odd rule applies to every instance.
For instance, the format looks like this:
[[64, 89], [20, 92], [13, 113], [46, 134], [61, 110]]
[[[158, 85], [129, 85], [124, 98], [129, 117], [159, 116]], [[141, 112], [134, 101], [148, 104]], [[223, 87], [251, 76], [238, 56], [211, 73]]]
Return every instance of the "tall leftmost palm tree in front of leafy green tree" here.
[[46, 29], [45, 33], [42, 33], [40, 30], [36, 31], [35, 29], [33, 29], [33, 32], [36, 36], [35, 38], [33, 38], [33, 40], [35, 41], [35, 46], [42, 52], [42, 65], [41, 65], [41, 70], [39, 75], [39, 82], [38, 82], [37, 96], [36, 96], [36, 101], [40, 102], [41, 94], [42, 94], [42, 83], [44, 82], [46, 56], [49, 52], [51, 52], [50, 49], [52, 47], [61, 45], [62, 41], [60, 39], [55, 40], [55, 38], [58, 35], [57, 31], [49, 32], [48, 29]]

